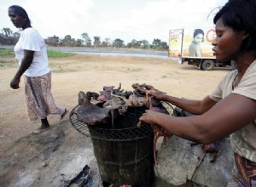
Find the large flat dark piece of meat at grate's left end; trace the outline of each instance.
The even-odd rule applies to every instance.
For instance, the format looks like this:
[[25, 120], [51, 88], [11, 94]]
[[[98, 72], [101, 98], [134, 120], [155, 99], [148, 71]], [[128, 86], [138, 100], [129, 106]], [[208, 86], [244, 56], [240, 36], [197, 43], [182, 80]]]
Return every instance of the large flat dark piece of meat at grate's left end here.
[[79, 121], [84, 122], [87, 125], [108, 122], [108, 118], [110, 118], [110, 110], [91, 104], [88, 97], [82, 91], [79, 92], [79, 105], [80, 107], [76, 111]]

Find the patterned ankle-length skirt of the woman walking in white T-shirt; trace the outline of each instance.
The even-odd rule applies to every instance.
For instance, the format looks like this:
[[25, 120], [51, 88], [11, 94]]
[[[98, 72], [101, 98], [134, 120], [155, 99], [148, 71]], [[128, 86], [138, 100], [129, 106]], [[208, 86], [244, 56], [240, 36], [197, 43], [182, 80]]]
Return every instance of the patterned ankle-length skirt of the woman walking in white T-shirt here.
[[25, 76], [26, 109], [29, 121], [44, 119], [49, 114], [64, 113], [65, 108], [55, 103], [50, 89], [50, 71], [41, 77]]

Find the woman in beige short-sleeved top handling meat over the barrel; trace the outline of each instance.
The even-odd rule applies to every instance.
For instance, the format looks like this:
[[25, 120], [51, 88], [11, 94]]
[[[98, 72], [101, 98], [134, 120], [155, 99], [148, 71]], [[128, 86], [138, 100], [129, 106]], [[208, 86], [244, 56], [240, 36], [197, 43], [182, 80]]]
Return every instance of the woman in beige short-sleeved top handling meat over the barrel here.
[[212, 42], [218, 61], [235, 60], [218, 86], [202, 100], [179, 99], [148, 91], [198, 116], [175, 117], [146, 111], [140, 121], [158, 124], [183, 139], [210, 144], [230, 135], [236, 178], [242, 186], [256, 186], [256, 0], [229, 0], [213, 22]]

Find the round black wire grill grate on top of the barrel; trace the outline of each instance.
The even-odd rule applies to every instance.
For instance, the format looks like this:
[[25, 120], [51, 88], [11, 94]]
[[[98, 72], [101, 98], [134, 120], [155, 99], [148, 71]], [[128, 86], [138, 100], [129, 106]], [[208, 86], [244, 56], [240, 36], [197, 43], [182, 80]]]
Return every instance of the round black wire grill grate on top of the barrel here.
[[137, 127], [139, 117], [146, 110], [145, 107], [129, 107], [125, 116], [118, 116], [112, 122], [100, 125], [87, 125], [79, 121], [76, 111], [79, 105], [73, 108], [70, 112], [69, 120], [73, 127], [92, 139], [102, 139], [108, 141], [130, 141], [135, 139], [145, 139], [149, 136], [154, 136], [152, 128], [142, 122], [141, 127]]

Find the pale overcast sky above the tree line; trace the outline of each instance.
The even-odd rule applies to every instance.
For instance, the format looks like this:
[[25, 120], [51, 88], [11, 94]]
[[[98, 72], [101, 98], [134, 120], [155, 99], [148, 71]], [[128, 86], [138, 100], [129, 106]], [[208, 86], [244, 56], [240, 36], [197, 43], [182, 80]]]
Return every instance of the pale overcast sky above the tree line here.
[[8, 16], [11, 5], [20, 5], [42, 37], [66, 35], [78, 39], [86, 32], [91, 40], [116, 38], [125, 43], [154, 38], [169, 40], [171, 29], [214, 26], [212, 18], [228, 0], [0, 0], [0, 31], [18, 31]]

